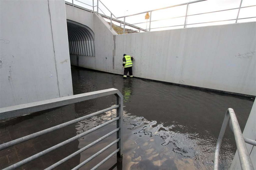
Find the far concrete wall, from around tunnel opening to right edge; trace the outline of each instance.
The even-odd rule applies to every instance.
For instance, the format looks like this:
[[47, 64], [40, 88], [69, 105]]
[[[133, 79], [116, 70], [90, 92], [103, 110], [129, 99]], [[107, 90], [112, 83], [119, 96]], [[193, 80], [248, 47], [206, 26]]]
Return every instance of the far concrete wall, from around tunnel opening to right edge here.
[[66, 16], [95, 33], [96, 56], [73, 65], [122, 75], [125, 53], [135, 77], [256, 95], [255, 22], [117, 35], [96, 14], [66, 5]]

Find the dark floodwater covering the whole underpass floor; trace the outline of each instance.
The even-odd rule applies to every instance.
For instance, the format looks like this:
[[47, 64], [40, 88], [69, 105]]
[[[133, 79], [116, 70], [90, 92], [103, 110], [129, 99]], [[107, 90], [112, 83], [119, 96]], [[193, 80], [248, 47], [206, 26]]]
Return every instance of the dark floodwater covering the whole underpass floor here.
[[[72, 67], [73, 93], [117, 88], [124, 96], [123, 160], [113, 156], [99, 169], [213, 169], [214, 151], [227, 108], [233, 108], [243, 131], [254, 99]], [[113, 106], [115, 96], [101, 97], [2, 121], [1, 143]], [[0, 168], [116, 117], [116, 110], [80, 121], [48, 135], [0, 151]], [[116, 128], [112, 123], [43, 156], [20, 169], [44, 169]], [[56, 169], [71, 169], [116, 139], [113, 134]], [[112, 153], [112, 146], [80, 169], [90, 169]], [[236, 151], [226, 131], [221, 169]], [[24, 154], [25, 153], [25, 154]]]

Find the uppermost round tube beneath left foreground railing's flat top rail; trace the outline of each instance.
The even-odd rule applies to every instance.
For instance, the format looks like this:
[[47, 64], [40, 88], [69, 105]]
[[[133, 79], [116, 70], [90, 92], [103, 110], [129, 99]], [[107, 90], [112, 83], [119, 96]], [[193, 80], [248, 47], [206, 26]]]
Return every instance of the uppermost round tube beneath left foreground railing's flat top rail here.
[[62, 127], [66, 127], [66, 126], [68, 126], [68, 125], [70, 125], [70, 124], [79, 122], [79, 121], [81, 121], [81, 120], [85, 120], [85, 119], [87, 119], [87, 118], [89, 118], [89, 117], [96, 116], [96, 115], [101, 114], [101, 113], [105, 113], [105, 112], [107, 112], [107, 111], [109, 111], [109, 110], [116, 109], [116, 108], [118, 108], [118, 107], [120, 107], [120, 105], [112, 106], [112, 107], [109, 107], [109, 108], [107, 108], [107, 109], [103, 109], [103, 110], [100, 110], [100, 111], [98, 111], [98, 112], [95, 112], [95, 113], [92, 113], [92, 114], [89, 114], [89, 115], [86, 115], [86, 116], [83, 116], [83, 117], [80, 117], [80, 118], [71, 120], [71, 121], [69, 121], [69, 122], [62, 123], [62, 124], [59, 124], [59, 125], [54, 126], [54, 127], [50, 127], [50, 128], [48, 128], [48, 129], [45, 129], [45, 130], [41, 130], [41, 131], [36, 132], [36, 133], [34, 133], [34, 134], [30, 134], [30, 135], [27, 135], [27, 136], [25, 136], [25, 137], [21, 137], [21, 138], [19, 138], [19, 139], [13, 140], [13, 141], [6, 142], [6, 143], [0, 145], [0, 151], [3, 150], [3, 149], [5, 149], [5, 148], [7, 148], [7, 147], [11, 147], [11, 146], [13, 146], [13, 145], [16, 145], [16, 144], [19, 144], [19, 143], [28, 141], [28, 140], [33, 139], [33, 138], [35, 138], [35, 137], [38, 137], [38, 136], [41, 136], [41, 135], [43, 135], [43, 134], [52, 132], [52, 131], [57, 130], [57, 129], [60, 129], [60, 128], [62, 128]]

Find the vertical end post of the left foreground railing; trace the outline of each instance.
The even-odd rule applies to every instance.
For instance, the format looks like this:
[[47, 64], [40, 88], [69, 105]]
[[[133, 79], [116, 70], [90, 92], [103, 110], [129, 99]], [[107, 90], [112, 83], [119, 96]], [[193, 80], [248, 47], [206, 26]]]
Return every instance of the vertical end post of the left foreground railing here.
[[116, 108], [116, 117], [120, 116], [120, 119], [116, 122], [116, 128], [120, 127], [120, 130], [117, 131], [117, 139], [120, 138], [120, 141], [117, 143], [117, 149], [120, 148], [117, 153], [117, 157], [123, 156], [123, 98], [119, 95], [116, 95], [116, 104], [120, 107]]

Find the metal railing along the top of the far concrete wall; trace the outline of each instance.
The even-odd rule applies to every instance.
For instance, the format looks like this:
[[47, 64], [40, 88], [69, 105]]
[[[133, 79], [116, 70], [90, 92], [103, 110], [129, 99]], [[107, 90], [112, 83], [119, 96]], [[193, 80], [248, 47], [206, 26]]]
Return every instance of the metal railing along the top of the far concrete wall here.
[[[72, 3], [73, 3], [73, 1], [77, 1], [77, 0], [72, 0]], [[97, 5], [96, 5], [96, 6], [94, 6], [94, 0], [93, 0], [93, 5], [89, 5], [89, 6], [93, 6], [93, 8], [94, 8], [94, 7], [97, 7], [97, 13], [100, 14], [100, 13], [99, 13], [99, 10], [100, 10], [100, 11], [103, 13], [103, 14], [100, 14], [100, 15], [101, 15], [103, 18], [110, 20], [110, 28], [111, 28], [111, 29], [112, 29], [112, 21], [115, 21], [115, 22], [120, 23], [120, 27], [123, 27], [123, 31], [122, 31], [122, 32], [116, 32], [116, 33], [123, 33], [123, 34], [126, 33], [126, 32], [132, 32], [132, 31], [139, 31], [139, 32], [140, 32], [140, 31], [144, 31], [144, 32], [146, 32], [146, 31], [151, 31], [152, 29], [171, 28], [171, 27], [175, 27], [175, 26], [183, 26], [183, 28], [186, 28], [188, 25], [205, 24], [205, 23], [215, 23], [215, 22], [223, 22], [223, 21], [235, 21], [235, 23], [237, 23], [237, 21], [238, 21], [239, 19], [251, 19], [251, 18], [256, 18], [256, 16], [253, 16], [253, 17], [245, 17], [245, 18], [239, 18], [240, 9], [256, 6], [256, 5], [250, 5], [250, 6], [241, 7], [243, 0], [240, 1], [240, 5], [239, 5], [239, 7], [237, 7], [237, 8], [224, 9], [224, 10], [218, 10], [218, 11], [204, 12], [204, 13], [197, 13], [197, 14], [188, 15], [188, 9], [189, 9], [189, 5], [190, 5], [190, 4], [194, 4], [194, 3], [198, 3], [198, 2], [203, 2], [203, 1], [207, 1], [207, 0], [197, 0], [197, 1], [193, 1], [193, 2], [187, 2], [187, 3], [183, 3], [183, 4], [172, 5], [172, 6], [168, 6], [168, 7], [165, 7], [165, 8], [159, 8], [159, 9], [144, 11], [144, 12], [140, 12], [140, 13], [136, 13], [136, 14], [132, 14], [132, 15], [120, 16], [120, 17], [116, 17], [100, 0], [97, 0]], [[80, 1], [78, 1], [78, 2], [80, 2]], [[99, 8], [99, 6], [98, 6], [99, 2], [107, 9], [107, 11], [110, 12], [110, 16], [107, 16], [107, 15]], [[83, 2], [80, 2], [80, 3], [83, 3]], [[86, 4], [86, 3], [83, 3], [83, 4], [88, 5], [88, 4]], [[177, 6], [183, 6], [183, 5], [186, 5], [185, 15], [183, 15], [183, 16], [170, 17], [170, 18], [158, 19], [158, 20], [151, 20], [152, 12], [154, 12], [154, 11], [158, 11], [158, 10], [162, 10], [162, 9], [168, 9], [168, 8], [173, 8], [173, 7], [177, 7]], [[73, 4], [73, 6], [75, 6], [75, 5]], [[187, 24], [187, 21], [188, 21], [188, 17], [189, 17], [189, 16], [197, 16], [197, 15], [209, 14], [209, 13], [214, 13], [214, 12], [223, 12], [223, 11], [229, 11], [229, 10], [234, 10], [234, 9], [238, 9], [237, 15], [236, 15], [236, 17], [235, 17], [234, 19], [225, 19], [225, 20], [218, 20], [218, 21], [208, 21], [208, 22], [199, 22], [199, 23], [190, 23], [190, 24]], [[94, 9], [93, 9], [92, 12], [94, 12]], [[136, 16], [136, 15], [144, 14], [144, 13], [147, 13], [147, 12], [150, 12], [149, 21], [146, 21], [146, 22], [139, 22], [139, 23], [132, 23], [132, 24], [126, 23], [126, 21], [125, 21], [127, 17]], [[118, 20], [118, 19], [120, 19], [120, 18], [123, 18], [123, 21]], [[162, 21], [162, 20], [167, 20], [167, 19], [176, 19], [176, 18], [184, 18], [184, 24], [180, 24], [180, 25], [170, 25], [170, 26], [159, 26], [159, 27], [151, 28], [151, 23], [152, 23], [152, 22]], [[143, 28], [140, 28], [139, 26], [136, 26], [136, 24], [142, 24], [142, 23], [149, 23], [149, 28], [143, 29]], [[130, 27], [132, 27], [132, 28], [135, 28], [135, 30], [125, 31], [125, 26], [130, 26]]]

